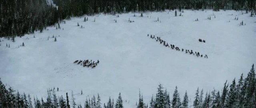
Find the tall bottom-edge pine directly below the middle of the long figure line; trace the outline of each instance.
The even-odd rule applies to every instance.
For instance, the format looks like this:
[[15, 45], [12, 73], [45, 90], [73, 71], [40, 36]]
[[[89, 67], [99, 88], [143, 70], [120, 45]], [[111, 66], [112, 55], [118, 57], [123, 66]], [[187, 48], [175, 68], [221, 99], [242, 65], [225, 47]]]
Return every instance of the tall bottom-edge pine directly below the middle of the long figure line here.
[[178, 93], [178, 87], [176, 86], [173, 93], [173, 98], [172, 98], [172, 108], [180, 108], [180, 106], [181, 106], [180, 95]]

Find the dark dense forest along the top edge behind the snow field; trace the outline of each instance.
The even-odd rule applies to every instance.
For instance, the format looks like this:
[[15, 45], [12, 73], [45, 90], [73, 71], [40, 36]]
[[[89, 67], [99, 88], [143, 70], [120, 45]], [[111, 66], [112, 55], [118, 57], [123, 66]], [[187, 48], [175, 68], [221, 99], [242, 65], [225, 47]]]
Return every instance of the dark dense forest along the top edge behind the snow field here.
[[256, 10], [255, 0], [0, 0], [0, 37], [22, 37], [84, 14], [182, 9]]

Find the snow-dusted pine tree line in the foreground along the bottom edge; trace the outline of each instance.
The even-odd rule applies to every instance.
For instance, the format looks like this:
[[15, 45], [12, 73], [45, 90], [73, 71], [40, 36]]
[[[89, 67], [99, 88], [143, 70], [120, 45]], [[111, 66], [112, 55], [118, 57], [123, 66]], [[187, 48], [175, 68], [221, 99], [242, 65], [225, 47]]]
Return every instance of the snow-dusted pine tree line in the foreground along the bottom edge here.
[[[58, 89], [57, 89], [58, 91]], [[34, 97], [34, 103], [32, 97], [25, 93], [20, 94], [18, 91], [14, 91], [12, 87], [6, 89], [6, 86], [0, 81], [0, 108], [102, 108], [102, 103], [99, 94], [97, 99], [95, 96], [90, 98], [86, 96], [84, 105], [77, 104], [75, 102], [73, 91], [71, 98], [68, 93], [66, 97], [56, 96], [56, 90], [47, 89], [47, 98], [38, 99]], [[82, 91], [81, 91], [82, 95]], [[243, 74], [236, 83], [236, 79], [232, 83], [224, 83], [222, 91], [207, 91], [204, 95], [203, 89], [196, 90], [193, 101], [193, 108], [256, 108], [256, 77], [254, 65], [250, 69], [246, 78]], [[71, 101], [70, 101], [71, 100]], [[160, 84], [157, 88], [156, 95], [152, 95], [149, 104], [146, 104], [143, 100], [143, 96], [139, 91], [139, 99], [136, 102], [137, 108], [188, 108], [188, 95], [184, 94], [183, 99], [180, 98], [178, 87], [170, 98], [169, 92]], [[103, 104], [103, 108], [124, 108], [121, 93], [119, 93], [116, 103], [114, 99], [109, 97], [109, 101]]]

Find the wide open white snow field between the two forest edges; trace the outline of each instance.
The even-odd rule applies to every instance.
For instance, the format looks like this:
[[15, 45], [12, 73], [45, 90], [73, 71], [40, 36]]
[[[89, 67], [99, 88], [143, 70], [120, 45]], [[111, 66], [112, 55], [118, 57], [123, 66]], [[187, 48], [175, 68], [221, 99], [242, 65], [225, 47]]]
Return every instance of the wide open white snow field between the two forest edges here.
[[[125, 108], [134, 108], [139, 89], [144, 102], [149, 103], [160, 83], [170, 98], [175, 86], [182, 99], [187, 91], [192, 104], [197, 87], [203, 88], [204, 94], [213, 87], [221, 90], [226, 80], [247, 75], [256, 63], [256, 18], [241, 11], [206, 11], [184, 10], [183, 16], [177, 17], [175, 11], [148, 12], [144, 17], [140, 13], [135, 13], [136, 17], [134, 13], [120, 17], [100, 14], [89, 16], [86, 22], [84, 17], [72, 17], [58, 30], [47, 27], [43, 33], [16, 37], [16, 42], [2, 38], [0, 78], [8, 87], [38, 98], [46, 98], [47, 88], [58, 87], [58, 95], [74, 91], [76, 102], [82, 106], [87, 95], [99, 93], [106, 103], [109, 96], [116, 101], [121, 92]], [[154, 22], [158, 17], [161, 22]], [[135, 22], [128, 22], [129, 18]], [[246, 25], [240, 26], [242, 21]], [[164, 47], [148, 34], [178, 46], [180, 51]], [[22, 42], [25, 47], [18, 48]], [[203, 57], [185, 54], [182, 48], [200, 52]], [[100, 64], [94, 69], [73, 64], [87, 59]], [[79, 95], [81, 90], [83, 95]]]

